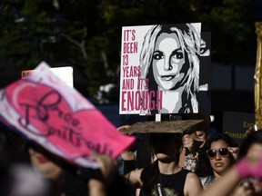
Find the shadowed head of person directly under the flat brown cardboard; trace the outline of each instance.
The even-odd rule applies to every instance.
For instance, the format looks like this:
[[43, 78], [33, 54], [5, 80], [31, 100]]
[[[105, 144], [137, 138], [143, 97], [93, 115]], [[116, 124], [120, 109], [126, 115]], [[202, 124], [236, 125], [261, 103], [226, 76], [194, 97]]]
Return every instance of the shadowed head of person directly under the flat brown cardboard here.
[[182, 146], [180, 133], [151, 133], [149, 145], [157, 160], [161, 162], [179, 162], [179, 153]]

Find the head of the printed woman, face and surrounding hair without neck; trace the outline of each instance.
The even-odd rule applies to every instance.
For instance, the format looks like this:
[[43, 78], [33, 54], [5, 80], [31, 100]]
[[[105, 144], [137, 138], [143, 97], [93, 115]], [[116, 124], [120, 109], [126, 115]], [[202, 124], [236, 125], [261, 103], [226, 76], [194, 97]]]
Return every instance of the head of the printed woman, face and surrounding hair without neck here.
[[142, 46], [141, 76], [155, 79], [155, 83], [149, 81], [149, 88], [154, 90], [157, 86], [162, 90], [185, 86], [188, 91], [196, 91], [199, 53], [200, 34], [194, 25], [155, 25]]

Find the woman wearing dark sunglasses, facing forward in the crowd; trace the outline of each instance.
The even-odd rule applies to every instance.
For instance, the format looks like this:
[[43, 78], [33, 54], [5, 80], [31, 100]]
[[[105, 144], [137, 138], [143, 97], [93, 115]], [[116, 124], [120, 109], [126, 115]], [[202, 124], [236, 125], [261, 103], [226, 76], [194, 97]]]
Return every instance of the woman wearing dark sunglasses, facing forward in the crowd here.
[[[213, 181], [223, 176], [227, 169], [236, 162], [235, 154], [237, 152], [237, 143], [227, 134], [218, 133], [212, 135], [206, 142], [206, 171], [207, 173], [198, 174], [204, 189], [206, 189]], [[203, 156], [202, 156], [203, 157]], [[202, 160], [204, 162], [204, 160]], [[204, 168], [198, 168], [198, 171]], [[200, 165], [201, 166], [201, 165]], [[209, 170], [207, 170], [209, 169]]]

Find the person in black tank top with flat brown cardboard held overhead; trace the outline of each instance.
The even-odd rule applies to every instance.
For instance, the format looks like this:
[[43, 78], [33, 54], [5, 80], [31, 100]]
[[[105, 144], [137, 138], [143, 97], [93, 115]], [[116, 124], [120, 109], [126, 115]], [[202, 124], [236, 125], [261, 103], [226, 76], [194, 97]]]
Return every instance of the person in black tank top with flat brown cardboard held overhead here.
[[[144, 122], [133, 124], [130, 128], [121, 130], [126, 133], [132, 133], [134, 130], [136, 132], [150, 132], [148, 143], [155, 158], [151, 164], [143, 169], [132, 171], [130, 161], [134, 160], [134, 154], [122, 153], [124, 171], [126, 171], [124, 172], [125, 177], [132, 185], [141, 189], [140, 196], [198, 196], [202, 191], [202, 185], [196, 173], [187, 171], [178, 165], [182, 148], [182, 132], [180, 129], [184, 129], [183, 126], [188, 124], [187, 121]], [[129, 156], [127, 156], [128, 154]], [[128, 171], [125, 170], [126, 166]]]

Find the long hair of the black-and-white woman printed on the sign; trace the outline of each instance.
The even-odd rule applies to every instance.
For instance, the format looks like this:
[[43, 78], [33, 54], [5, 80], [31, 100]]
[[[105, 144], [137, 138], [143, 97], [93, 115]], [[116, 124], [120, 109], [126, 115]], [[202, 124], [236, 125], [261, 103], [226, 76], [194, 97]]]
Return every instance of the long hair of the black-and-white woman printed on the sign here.
[[[180, 24], [180, 25], [154, 25], [146, 33], [144, 42], [142, 44], [142, 50], [140, 53], [140, 78], [147, 78], [151, 67], [153, 54], [155, 50], [156, 39], [159, 34], [164, 32], [176, 33], [182, 49], [186, 52], [188, 58], [188, 71], [186, 76], [182, 79], [183, 93], [186, 98], [190, 100], [190, 106], [185, 104], [183, 113], [196, 113], [198, 110], [198, 104], [196, 101], [196, 92], [199, 86], [199, 55], [200, 55], [200, 31], [196, 30], [196, 26], [192, 24]], [[154, 80], [154, 83], [155, 80]], [[149, 91], [146, 86], [142, 86], [142, 91]], [[142, 96], [142, 95], [141, 95]], [[187, 105], [187, 106], [186, 106]], [[182, 105], [183, 107], [183, 105]], [[141, 113], [148, 114], [150, 111], [142, 111]]]

